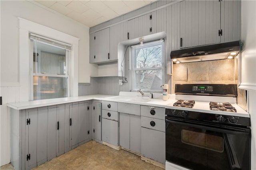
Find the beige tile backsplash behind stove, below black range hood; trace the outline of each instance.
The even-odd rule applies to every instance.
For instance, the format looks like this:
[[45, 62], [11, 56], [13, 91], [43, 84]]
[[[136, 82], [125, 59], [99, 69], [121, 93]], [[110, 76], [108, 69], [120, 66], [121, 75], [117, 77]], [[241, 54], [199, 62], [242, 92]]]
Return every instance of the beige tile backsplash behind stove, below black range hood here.
[[[237, 59], [173, 64], [172, 94], [175, 84], [237, 84]], [[246, 110], [246, 91], [238, 89], [238, 105]]]

